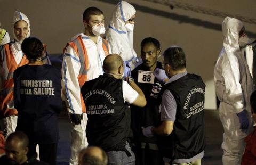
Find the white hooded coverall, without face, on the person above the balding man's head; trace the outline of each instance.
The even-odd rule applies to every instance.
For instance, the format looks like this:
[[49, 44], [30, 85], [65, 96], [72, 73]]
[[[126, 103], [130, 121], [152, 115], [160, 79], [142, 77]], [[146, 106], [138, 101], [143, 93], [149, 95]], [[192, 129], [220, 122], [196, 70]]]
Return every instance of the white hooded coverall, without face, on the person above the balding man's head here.
[[[112, 53], [119, 53], [124, 61], [137, 60], [137, 54], [133, 49], [133, 32], [127, 32], [124, 26], [125, 22], [135, 13], [136, 10], [131, 4], [119, 1], [106, 31], [106, 39], [110, 44]], [[120, 46], [123, 47], [123, 51], [120, 51]]]

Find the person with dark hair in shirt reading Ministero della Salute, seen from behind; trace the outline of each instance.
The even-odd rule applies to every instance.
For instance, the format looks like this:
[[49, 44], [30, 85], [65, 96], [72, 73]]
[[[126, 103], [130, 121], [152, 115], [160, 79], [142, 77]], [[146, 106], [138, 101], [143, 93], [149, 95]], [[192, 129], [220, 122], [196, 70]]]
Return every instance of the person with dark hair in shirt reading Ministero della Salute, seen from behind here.
[[49, 64], [44, 64], [42, 42], [34, 37], [26, 38], [21, 44], [28, 64], [14, 71], [14, 106], [17, 109], [16, 130], [29, 137], [28, 156], [36, 151], [49, 164], [56, 164], [59, 141], [58, 114], [61, 103], [61, 72]]

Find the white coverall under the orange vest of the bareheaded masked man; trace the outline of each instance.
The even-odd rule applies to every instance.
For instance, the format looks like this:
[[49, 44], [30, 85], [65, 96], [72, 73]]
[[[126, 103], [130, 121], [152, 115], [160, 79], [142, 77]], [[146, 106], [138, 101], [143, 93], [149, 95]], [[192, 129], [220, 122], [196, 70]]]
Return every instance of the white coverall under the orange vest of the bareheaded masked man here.
[[[105, 52], [102, 48], [102, 38], [98, 36], [97, 44], [90, 39], [90, 37], [83, 33], [75, 35], [71, 40], [75, 40], [78, 36], [81, 36], [83, 44], [87, 51], [89, 68], [87, 71], [87, 81], [94, 78], [98, 78], [103, 75], [103, 61], [105, 59]], [[108, 47], [110, 50], [110, 47]], [[111, 53], [111, 51], [109, 51]], [[66, 102], [67, 110], [69, 114], [83, 114], [83, 120], [81, 124], [73, 125], [71, 131], [71, 157], [70, 164], [78, 164], [79, 151], [84, 147], [87, 147], [88, 142], [85, 134], [87, 125], [87, 114], [82, 113], [81, 98], [80, 98], [80, 86], [78, 82], [78, 75], [81, 67], [76, 51], [71, 46], [68, 46], [64, 52], [62, 62], [62, 91], [64, 93], [64, 99]]]

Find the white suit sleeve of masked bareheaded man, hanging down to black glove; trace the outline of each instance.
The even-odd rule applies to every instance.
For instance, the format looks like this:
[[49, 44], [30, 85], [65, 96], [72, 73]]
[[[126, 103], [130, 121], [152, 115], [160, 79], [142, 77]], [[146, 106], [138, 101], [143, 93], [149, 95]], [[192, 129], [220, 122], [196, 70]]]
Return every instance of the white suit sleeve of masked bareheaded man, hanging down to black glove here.
[[80, 67], [76, 52], [68, 46], [63, 56], [61, 86], [69, 113], [82, 114], [80, 86], [77, 78]]

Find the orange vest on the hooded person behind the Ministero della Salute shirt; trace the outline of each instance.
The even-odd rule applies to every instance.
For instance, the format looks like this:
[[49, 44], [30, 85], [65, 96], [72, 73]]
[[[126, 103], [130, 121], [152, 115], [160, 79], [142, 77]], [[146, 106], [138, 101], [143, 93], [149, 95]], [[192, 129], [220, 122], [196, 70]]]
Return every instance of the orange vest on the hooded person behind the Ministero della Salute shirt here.
[[[46, 45], [44, 45], [46, 51]], [[13, 114], [18, 114], [16, 109], [7, 107], [8, 103], [13, 101], [13, 72], [18, 67], [27, 64], [29, 61], [26, 55], [23, 55], [19, 65], [15, 61], [11, 50], [11, 44], [0, 46], [0, 65], [3, 70], [0, 71], [0, 76], [3, 79], [2, 86], [0, 86], [0, 118], [9, 117]]]

